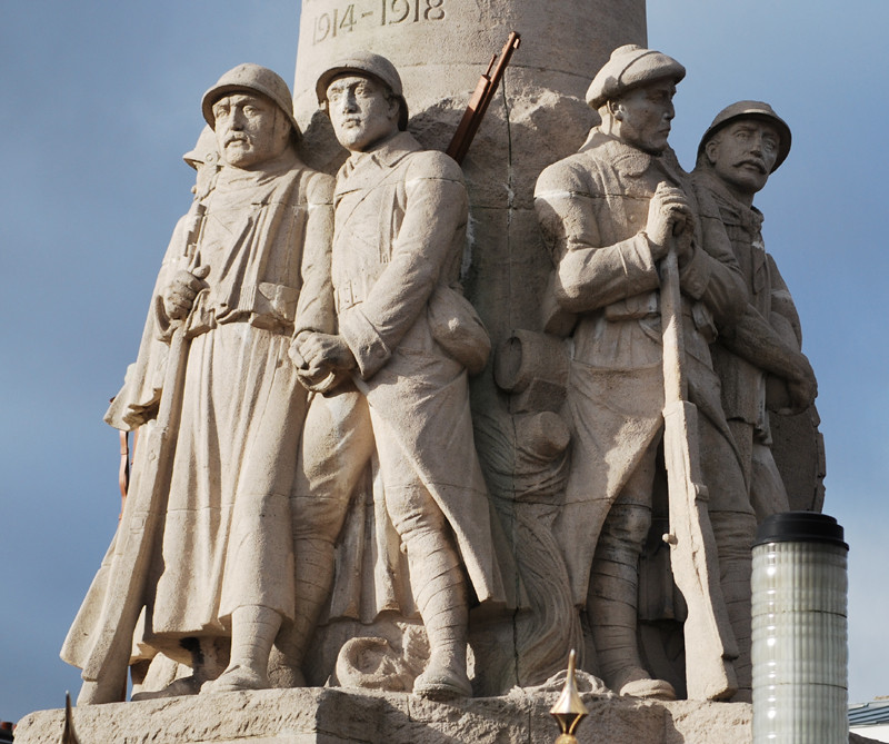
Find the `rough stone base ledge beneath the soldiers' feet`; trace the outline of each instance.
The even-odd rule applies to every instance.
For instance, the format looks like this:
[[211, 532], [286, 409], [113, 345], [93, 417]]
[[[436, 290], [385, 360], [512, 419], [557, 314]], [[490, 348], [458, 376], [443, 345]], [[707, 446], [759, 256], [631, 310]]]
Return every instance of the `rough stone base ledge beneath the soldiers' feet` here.
[[[558, 693], [513, 690], [453, 704], [340, 688], [267, 690], [74, 708], [81, 744], [552, 744]], [[745, 703], [643, 702], [587, 693], [583, 744], [748, 744]], [[22, 718], [16, 744], [58, 744], [63, 711]], [[851, 743], [871, 740], [851, 735]]]

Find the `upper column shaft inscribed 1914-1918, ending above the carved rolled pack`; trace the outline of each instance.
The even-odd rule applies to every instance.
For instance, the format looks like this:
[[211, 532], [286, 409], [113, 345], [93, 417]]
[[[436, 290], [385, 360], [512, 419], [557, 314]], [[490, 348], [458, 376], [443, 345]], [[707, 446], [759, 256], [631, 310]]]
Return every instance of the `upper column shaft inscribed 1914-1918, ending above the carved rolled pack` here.
[[596, 117], [583, 96], [611, 50], [646, 43], [645, 0], [303, 0], [293, 85], [297, 119], [309, 130], [306, 157], [316, 165], [330, 169], [341, 155], [316, 131], [324, 127], [314, 117], [314, 82], [331, 58], [354, 49], [394, 63], [411, 131], [444, 149], [512, 30], [521, 47], [463, 161], [472, 210], [468, 290], [495, 340], [539, 327], [535, 298], [549, 267], [533, 218], [535, 181], [582, 143]]

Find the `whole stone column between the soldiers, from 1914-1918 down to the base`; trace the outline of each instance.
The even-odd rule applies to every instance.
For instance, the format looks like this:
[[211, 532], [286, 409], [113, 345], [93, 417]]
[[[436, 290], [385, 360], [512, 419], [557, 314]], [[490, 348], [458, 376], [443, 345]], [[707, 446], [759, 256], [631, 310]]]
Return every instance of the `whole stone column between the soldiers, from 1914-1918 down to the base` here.
[[[378, 52], [401, 75], [410, 131], [443, 150], [479, 76], [512, 30], [521, 33], [521, 47], [462, 166], [470, 197], [466, 294], [495, 348], [515, 351], [508, 341], [515, 329], [541, 328], [540, 296], [551, 268], [533, 211], [535, 182], [546, 166], [575, 152], [597, 122], [583, 97], [611, 50], [646, 43], [645, 0], [303, 0], [293, 91], [303, 157], [333, 172], [344, 152], [318, 111], [318, 73], [351, 50]], [[541, 337], [543, 354], [546, 347]], [[535, 344], [526, 339], [522, 348]], [[565, 546], [549, 530], [567, 444], [555, 415], [558, 386], [530, 381], [531, 390], [552, 388], [549, 403], [546, 395], [542, 404], [540, 395], [509, 396], [496, 385], [493, 369], [492, 359], [472, 384], [476, 445], [529, 609], [518, 621], [505, 615], [499, 629], [488, 624], [487, 639], [475, 644], [477, 677], [486, 676], [481, 687], [488, 692], [542, 682], [563, 668], [569, 645], [582, 646]], [[512, 653], [498, 662], [485, 647]]]

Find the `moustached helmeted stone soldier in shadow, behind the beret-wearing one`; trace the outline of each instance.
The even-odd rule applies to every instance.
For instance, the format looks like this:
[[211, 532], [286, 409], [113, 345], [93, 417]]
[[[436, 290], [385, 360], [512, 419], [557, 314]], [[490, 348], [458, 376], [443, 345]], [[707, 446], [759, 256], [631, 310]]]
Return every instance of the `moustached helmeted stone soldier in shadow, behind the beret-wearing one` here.
[[767, 377], [786, 386], [769, 401], [799, 413], [817, 395], [815, 373], [800, 351], [793, 299], [762, 241], [762, 212], [753, 206], [790, 151], [790, 129], [768, 103], [738, 101], [722, 109], [703, 133], [692, 173], [725, 224], [747, 284], [747, 310], [711, 347], [722, 383], [722, 406], [741, 453], [750, 497], [761, 520], [787, 512], [787, 490], [771, 453]]

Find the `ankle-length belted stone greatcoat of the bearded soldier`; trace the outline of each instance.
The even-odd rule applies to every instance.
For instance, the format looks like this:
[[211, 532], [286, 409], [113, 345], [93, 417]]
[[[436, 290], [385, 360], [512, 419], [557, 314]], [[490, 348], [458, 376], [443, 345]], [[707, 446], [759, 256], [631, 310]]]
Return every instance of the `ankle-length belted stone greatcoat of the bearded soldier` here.
[[[332, 179], [308, 170], [288, 150], [261, 170], [223, 168], [207, 197], [192, 247], [171, 247], [164, 272], [209, 266], [186, 323], [187, 367], [170, 486], [160, 527], [144, 563], [144, 642], [190, 661], [187, 636], [230, 632], [231, 613], [262, 605], [293, 613], [289, 494], [307, 393], [288, 348], [298, 313], [318, 310], [319, 287], [303, 287], [313, 261], [327, 259], [332, 228]], [[189, 230], [179, 230], [188, 234]], [[162, 282], [159, 282], [159, 285]], [[300, 292], [304, 292], [300, 301]], [[329, 294], [329, 292], [327, 292]], [[172, 324], [156, 297], [150, 343], [169, 341]], [[329, 317], [329, 311], [323, 315]], [[318, 325], [316, 323], [316, 325]], [[166, 360], [140, 359], [124, 403], [110, 423], [142, 423]], [[124, 405], [126, 404], [126, 405]], [[151, 435], [149, 435], [151, 436]], [[140, 442], [139, 448], [148, 448]], [[138, 532], [139, 488], [153, 464], [139, 459], [120, 530]], [[62, 648], [83, 667], [97, 641], [109, 586], [136, 581], [116, 571], [119, 540], [109, 548]]]

